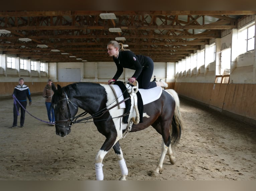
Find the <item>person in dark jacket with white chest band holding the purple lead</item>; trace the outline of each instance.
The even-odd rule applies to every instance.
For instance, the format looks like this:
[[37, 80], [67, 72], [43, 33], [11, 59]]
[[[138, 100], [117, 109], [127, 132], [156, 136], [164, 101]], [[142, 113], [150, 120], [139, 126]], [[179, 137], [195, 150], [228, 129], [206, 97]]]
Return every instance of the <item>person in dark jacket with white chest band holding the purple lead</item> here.
[[[27, 106], [27, 97], [29, 100], [29, 105], [32, 104], [31, 96], [30, 96], [30, 91], [29, 88], [24, 85], [24, 80], [23, 78], [19, 79], [19, 85], [15, 86], [13, 95], [17, 98], [17, 100], [20, 102], [20, 104], [26, 109]], [[12, 128], [17, 127], [17, 118], [18, 118], [18, 112], [20, 108], [20, 127], [24, 127], [24, 121], [25, 121], [25, 109], [20, 106], [16, 99], [14, 99], [13, 103], [13, 124]]]

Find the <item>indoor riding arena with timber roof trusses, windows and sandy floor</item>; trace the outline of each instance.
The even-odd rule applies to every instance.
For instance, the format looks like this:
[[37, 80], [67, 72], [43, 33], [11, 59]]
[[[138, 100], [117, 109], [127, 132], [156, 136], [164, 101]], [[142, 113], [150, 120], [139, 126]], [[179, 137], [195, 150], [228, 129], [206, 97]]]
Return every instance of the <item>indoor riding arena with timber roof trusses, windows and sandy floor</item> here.
[[[119, 140], [126, 179], [255, 181], [256, 11], [102, 13], [0, 11], [0, 180], [96, 180], [95, 158], [105, 136], [91, 120], [73, 124], [65, 137], [57, 135], [43, 90], [49, 79], [62, 88], [107, 85], [117, 71], [107, 44], [116, 40], [126, 45], [124, 51], [154, 61], [151, 81], [156, 76], [168, 84], [164, 89], [177, 92], [183, 121], [179, 142], [171, 144], [176, 161], [171, 164], [166, 154], [159, 174], [152, 172], [162, 136], [152, 126]], [[124, 68], [118, 81], [133, 74]], [[32, 104], [26, 106], [24, 127], [19, 110], [12, 128], [12, 94], [20, 78]], [[102, 164], [104, 180], [119, 180], [113, 149]]]

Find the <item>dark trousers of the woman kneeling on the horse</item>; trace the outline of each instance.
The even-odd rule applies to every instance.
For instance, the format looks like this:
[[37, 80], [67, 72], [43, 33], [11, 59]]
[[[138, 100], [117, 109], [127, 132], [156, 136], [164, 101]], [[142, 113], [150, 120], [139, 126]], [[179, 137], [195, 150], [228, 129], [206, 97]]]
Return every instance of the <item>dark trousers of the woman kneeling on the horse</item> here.
[[139, 84], [139, 88], [150, 89], [156, 87], [155, 82], [150, 82], [153, 75], [153, 70], [154, 62], [151, 58], [148, 57], [147, 64], [145, 65], [145, 67], [142, 68], [140, 75], [136, 79]]

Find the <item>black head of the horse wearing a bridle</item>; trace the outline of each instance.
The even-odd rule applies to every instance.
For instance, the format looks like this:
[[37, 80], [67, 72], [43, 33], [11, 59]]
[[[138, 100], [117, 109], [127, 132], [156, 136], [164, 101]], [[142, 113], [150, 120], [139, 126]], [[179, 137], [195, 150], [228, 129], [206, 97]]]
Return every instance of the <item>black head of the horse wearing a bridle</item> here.
[[66, 136], [71, 132], [73, 119], [78, 112], [78, 106], [73, 102], [70, 87], [61, 88], [57, 85], [57, 89], [52, 87], [54, 92], [51, 104], [54, 108], [55, 129], [59, 136]]

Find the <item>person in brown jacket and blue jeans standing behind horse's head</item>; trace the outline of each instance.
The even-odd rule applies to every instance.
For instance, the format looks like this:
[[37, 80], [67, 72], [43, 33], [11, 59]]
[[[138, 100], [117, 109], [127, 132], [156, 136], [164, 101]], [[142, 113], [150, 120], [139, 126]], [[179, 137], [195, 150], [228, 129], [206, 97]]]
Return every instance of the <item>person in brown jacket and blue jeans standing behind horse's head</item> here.
[[[55, 86], [55, 85], [52, 83], [52, 80], [49, 79], [48, 83], [43, 89], [43, 97], [45, 97], [45, 106], [47, 110], [48, 119], [50, 122], [55, 123], [54, 110], [51, 107], [51, 97], [54, 94], [54, 92], [51, 89], [52, 86]], [[49, 124], [49, 125], [54, 126], [54, 124]]]

